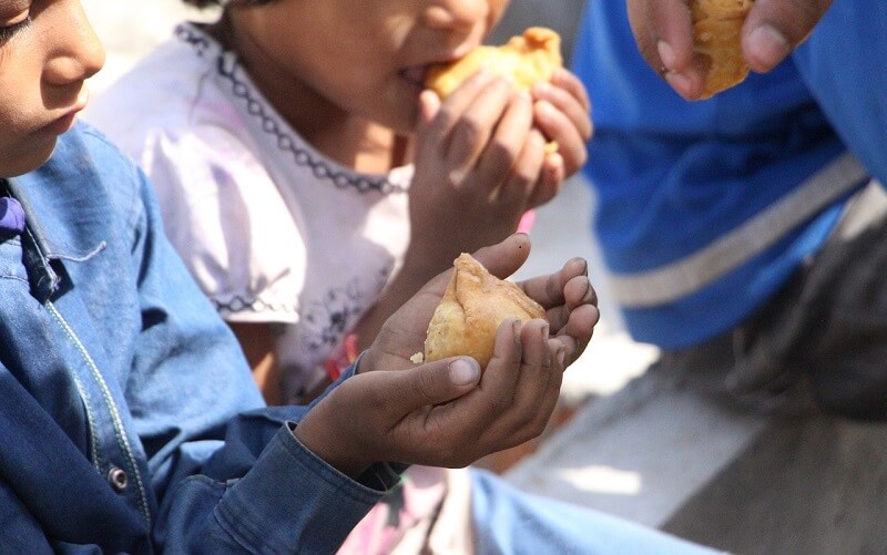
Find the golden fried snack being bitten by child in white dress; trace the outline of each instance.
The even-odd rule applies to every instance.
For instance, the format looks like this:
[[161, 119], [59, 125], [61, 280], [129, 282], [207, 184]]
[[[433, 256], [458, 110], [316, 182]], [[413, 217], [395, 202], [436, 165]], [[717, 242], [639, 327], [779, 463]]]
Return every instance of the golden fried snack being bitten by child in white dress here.
[[478, 47], [465, 58], [428, 70], [425, 85], [441, 99], [481, 68], [511, 78], [518, 89], [551, 80], [554, 70], [563, 66], [561, 37], [544, 27], [531, 27], [522, 37], [512, 37], [501, 47]]

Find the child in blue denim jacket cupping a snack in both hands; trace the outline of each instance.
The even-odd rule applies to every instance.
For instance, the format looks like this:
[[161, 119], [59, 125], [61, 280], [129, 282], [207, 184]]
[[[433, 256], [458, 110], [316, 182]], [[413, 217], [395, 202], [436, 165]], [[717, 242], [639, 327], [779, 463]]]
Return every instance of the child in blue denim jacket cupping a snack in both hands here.
[[[482, 376], [471, 359], [408, 359], [445, 274], [314, 404], [266, 408], [165, 239], [144, 175], [75, 124], [103, 55], [78, 0], [0, 0], [4, 551], [328, 553], [402, 463], [463, 465], [542, 430], [598, 319], [581, 260], [522, 284], [549, 321], [503, 323]], [[504, 276], [528, 248], [517, 235], [477, 257]], [[496, 499], [501, 518], [539, 508], [582, 523], [572, 539], [587, 546], [692, 549], [574, 507]], [[541, 516], [508, 522], [518, 545], [546, 532]], [[539, 537], [563, 553], [563, 528]]]

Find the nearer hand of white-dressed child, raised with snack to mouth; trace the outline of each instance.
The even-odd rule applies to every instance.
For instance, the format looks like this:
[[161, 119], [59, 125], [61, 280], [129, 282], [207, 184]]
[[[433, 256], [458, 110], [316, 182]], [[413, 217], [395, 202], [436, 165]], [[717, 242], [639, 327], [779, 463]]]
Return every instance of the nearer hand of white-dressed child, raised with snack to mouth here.
[[528, 93], [487, 72], [469, 78], [443, 102], [420, 96], [416, 174], [409, 192], [409, 255], [438, 256], [448, 267], [460, 253], [502, 240], [517, 229], [544, 160], [532, 129]]

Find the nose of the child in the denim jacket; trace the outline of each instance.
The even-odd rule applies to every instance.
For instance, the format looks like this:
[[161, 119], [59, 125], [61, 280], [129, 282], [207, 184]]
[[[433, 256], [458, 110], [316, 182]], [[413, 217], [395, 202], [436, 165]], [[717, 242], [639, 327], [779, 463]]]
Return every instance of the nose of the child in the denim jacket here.
[[69, 2], [70, 18], [60, 30], [60, 39], [47, 64], [45, 78], [67, 84], [91, 78], [104, 65], [104, 48], [92, 30], [80, 2]]

